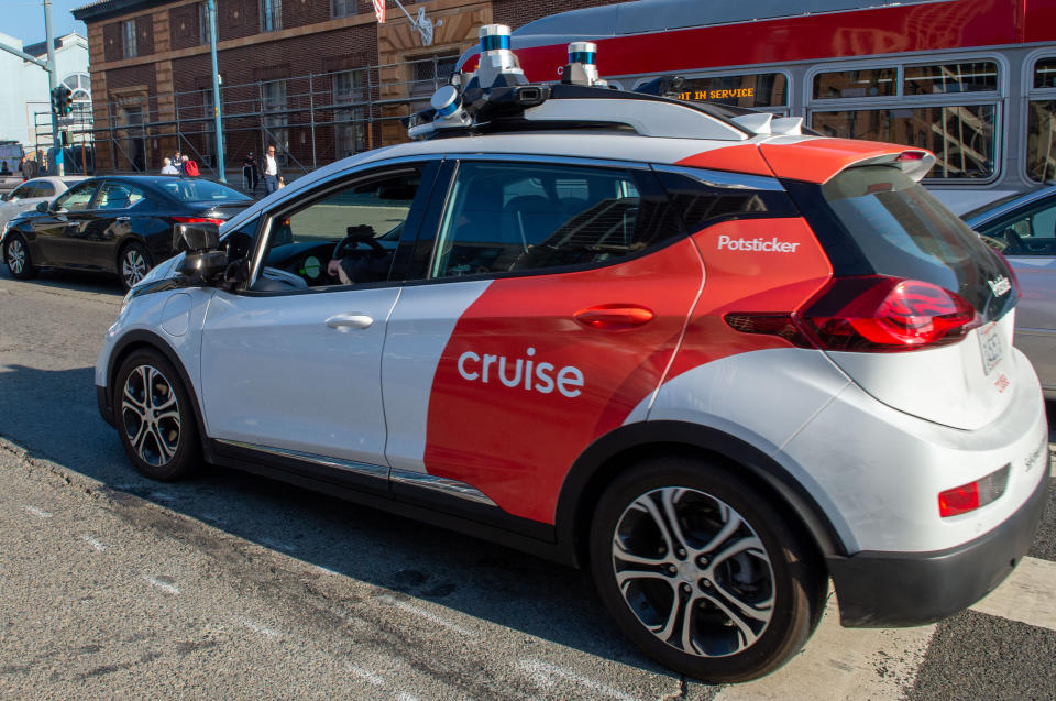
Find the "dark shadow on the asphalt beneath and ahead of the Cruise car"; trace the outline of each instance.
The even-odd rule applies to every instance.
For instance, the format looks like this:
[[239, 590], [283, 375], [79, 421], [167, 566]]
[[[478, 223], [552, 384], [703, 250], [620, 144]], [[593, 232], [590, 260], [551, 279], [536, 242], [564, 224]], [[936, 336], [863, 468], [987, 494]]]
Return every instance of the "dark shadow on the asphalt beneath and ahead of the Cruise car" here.
[[[673, 677], [623, 637], [588, 579], [579, 571], [233, 470], [208, 467], [200, 477], [180, 483], [141, 477], [125, 457], [117, 432], [99, 416], [94, 385], [91, 368], [44, 371], [0, 365], [0, 396], [4, 397], [0, 402], [0, 436], [30, 458], [53, 461], [101, 482], [118, 514], [127, 502], [136, 501], [129, 496], [134, 495], [394, 596], [436, 602], [590, 655]], [[165, 521], [150, 516], [142, 523], [133, 521], [133, 525], [158, 528]], [[197, 530], [191, 537], [186, 526], [174, 523], [163, 535], [194, 545], [200, 545], [202, 537], [223, 539], [202, 536], [216, 533], [209, 528]], [[206, 544], [204, 550], [213, 555], [231, 551], [230, 546], [213, 545]], [[254, 583], [273, 588], [274, 570], [260, 570], [250, 574], [256, 578]], [[307, 583], [298, 587], [296, 595], [302, 595]]]

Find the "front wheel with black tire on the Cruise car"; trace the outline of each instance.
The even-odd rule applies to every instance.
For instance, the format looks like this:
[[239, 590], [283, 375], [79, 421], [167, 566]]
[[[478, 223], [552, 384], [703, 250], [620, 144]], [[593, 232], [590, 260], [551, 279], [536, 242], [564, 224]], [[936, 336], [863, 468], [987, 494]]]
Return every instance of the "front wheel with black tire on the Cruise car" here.
[[193, 474], [201, 464], [195, 408], [172, 363], [155, 350], [138, 350], [113, 386], [118, 434], [135, 469], [163, 482]]

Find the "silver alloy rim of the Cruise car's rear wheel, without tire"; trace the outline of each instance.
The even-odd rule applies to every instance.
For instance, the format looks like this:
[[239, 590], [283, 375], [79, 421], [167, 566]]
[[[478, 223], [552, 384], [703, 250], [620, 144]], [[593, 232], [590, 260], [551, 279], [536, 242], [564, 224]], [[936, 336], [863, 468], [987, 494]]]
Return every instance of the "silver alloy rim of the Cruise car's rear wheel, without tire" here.
[[616, 524], [612, 557], [626, 605], [686, 655], [736, 655], [770, 624], [777, 583], [767, 549], [711, 494], [682, 486], [642, 494]]

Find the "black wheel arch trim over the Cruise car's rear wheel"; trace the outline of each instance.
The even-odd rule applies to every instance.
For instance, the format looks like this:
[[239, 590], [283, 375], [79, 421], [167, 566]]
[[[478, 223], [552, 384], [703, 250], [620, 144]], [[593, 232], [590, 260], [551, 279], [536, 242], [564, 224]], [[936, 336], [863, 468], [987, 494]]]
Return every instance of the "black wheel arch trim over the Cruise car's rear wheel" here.
[[658, 453], [708, 457], [747, 470], [760, 489], [803, 527], [818, 555], [846, 555], [836, 528], [813, 496], [773, 458], [744, 440], [683, 421], [642, 421], [596, 440], [572, 465], [558, 497], [556, 530], [576, 563], [586, 562], [593, 505], [605, 488], [636, 460]]

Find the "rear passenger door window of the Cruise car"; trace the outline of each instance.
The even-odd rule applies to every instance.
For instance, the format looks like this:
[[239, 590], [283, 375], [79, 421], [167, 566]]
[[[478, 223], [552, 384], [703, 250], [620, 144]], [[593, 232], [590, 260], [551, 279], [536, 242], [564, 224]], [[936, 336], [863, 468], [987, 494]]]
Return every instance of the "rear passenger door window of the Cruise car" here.
[[646, 249], [666, 231], [656, 226], [663, 207], [642, 196], [638, 177], [615, 168], [463, 163], [430, 276], [607, 263]]

